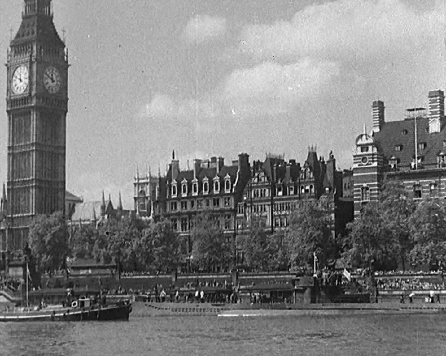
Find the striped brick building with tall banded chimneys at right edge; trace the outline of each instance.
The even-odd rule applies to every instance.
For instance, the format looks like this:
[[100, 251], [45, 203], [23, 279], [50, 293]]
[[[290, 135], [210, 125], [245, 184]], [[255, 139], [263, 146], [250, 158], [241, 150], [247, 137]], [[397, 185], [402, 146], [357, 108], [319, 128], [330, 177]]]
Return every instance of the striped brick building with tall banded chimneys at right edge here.
[[372, 105], [373, 126], [355, 141], [355, 216], [378, 199], [385, 178], [401, 180], [413, 199], [446, 197], [444, 93], [430, 91], [428, 109], [407, 109], [405, 117], [385, 121], [384, 102]]

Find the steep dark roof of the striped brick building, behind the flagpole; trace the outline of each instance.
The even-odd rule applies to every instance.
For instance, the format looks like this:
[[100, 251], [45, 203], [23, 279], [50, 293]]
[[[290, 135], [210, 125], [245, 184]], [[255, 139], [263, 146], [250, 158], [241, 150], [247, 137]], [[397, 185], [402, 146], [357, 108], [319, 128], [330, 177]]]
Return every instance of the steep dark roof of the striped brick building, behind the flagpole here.
[[[422, 157], [423, 166], [437, 166], [437, 156], [443, 150], [446, 141], [446, 129], [441, 132], [429, 133], [429, 118], [417, 118], [417, 142], [424, 142], [426, 148], [418, 149], [418, 156]], [[386, 160], [394, 156], [399, 158], [398, 166], [410, 166], [415, 158], [415, 125], [414, 119], [385, 122], [379, 132], [373, 134], [378, 150], [384, 154]], [[401, 151], [395, 151], [395, 146], [402, 145]]]

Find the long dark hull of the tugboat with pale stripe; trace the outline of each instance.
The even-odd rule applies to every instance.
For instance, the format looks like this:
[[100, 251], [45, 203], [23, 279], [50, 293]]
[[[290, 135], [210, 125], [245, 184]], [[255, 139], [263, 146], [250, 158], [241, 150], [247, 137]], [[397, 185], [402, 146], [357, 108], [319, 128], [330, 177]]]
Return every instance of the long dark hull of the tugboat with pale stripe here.
[[87, 310], [55, 308], [36, 312], [0, 313], [0, 322], [128, 320], [131, 312], [131, 304]]

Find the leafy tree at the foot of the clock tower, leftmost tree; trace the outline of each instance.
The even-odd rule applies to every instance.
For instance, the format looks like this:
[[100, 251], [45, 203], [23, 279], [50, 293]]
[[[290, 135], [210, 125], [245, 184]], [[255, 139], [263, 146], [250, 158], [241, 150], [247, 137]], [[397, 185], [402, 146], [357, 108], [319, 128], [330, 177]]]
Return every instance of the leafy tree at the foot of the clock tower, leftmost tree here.
[[29, 227], [28, 244], [37, 261], [39, 274], [47, 271], [51, 275], [62, 267], [69, 255], [68, 235], [65, 218], [61, 212], [50, 216], [38, 215]]

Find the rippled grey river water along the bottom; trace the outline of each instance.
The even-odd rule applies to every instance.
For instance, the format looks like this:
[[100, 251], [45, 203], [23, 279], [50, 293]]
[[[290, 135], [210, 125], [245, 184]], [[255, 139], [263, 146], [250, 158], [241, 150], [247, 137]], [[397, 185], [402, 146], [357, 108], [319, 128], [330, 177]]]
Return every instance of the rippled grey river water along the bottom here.
[[1, 356], [446, 355], [445, 315], [132, 317], [0, 324]]

